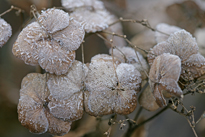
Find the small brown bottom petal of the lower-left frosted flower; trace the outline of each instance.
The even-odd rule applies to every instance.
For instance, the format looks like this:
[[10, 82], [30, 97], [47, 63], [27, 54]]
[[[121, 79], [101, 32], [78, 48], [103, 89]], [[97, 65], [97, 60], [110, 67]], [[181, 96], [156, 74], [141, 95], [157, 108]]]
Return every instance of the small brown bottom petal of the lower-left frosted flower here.
[[46, 113], [48, 118], [49, 128], [48, 133], [62, 136], [70, 131], [72, 122], [65, 122], [61, 119], [55, 118], [52, 114]]

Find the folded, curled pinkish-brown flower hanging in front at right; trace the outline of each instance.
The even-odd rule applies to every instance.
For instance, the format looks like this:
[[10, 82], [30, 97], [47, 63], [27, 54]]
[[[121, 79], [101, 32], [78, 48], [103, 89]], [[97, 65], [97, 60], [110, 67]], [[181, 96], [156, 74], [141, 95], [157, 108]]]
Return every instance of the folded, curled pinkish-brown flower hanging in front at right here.
[[178, 56], [163, 53], [155, 58], [149, 73], [149, 85], [160, 107], [166, 105], [164, 96], [182, 97], [183, 92], [177, 83], [180, 74], [181, 60]]

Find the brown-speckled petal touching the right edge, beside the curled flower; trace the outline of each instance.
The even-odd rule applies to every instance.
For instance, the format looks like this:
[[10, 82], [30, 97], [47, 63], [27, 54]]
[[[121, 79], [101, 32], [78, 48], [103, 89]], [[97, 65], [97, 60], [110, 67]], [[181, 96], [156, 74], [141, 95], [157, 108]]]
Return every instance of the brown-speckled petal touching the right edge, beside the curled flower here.
[[205, 73], [205, 58], [201, 54], [193, 54], [182, 64], [181, 77], [186, 80], [193, 80]]

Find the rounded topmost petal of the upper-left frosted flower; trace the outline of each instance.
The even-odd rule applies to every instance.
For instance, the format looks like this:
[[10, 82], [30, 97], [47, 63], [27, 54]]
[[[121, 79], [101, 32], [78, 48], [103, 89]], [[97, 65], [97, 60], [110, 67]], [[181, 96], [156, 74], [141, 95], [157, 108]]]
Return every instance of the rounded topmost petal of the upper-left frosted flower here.
[[69, 25], [69, 15], [60, 9], [47, 9], [38, 17], [39, 23], [48, 33], [54, 33]]

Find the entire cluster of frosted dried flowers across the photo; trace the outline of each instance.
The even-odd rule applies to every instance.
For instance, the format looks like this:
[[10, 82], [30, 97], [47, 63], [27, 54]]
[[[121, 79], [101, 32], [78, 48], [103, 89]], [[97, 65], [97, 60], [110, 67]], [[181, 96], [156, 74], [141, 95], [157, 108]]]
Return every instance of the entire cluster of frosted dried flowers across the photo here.
[[[75, 60], [75, 50], [86, 33], [108, 30], [123, 34], [122, 27], [119, 23], [109, 26], [117, 18], [102, 1], [61, 2], [70, 14], [55, 8], [42, 11], [21, 31], [12, 49], [26, 64], [40, 65], [48, 72], [28, 74], [21, 84], [19, 121], [33, 133], [66, 134], [85, 112], [92, 116], [130, 114], [147, 78], [150, 86], [141, 93], [139, 103], [154, 111], [166, 105], [165, 97], [183, 97], [179, 79], [188, 81], [205, 73], [205, 59], [195, 39], [167, 24], [157, 26], [168, 36], [156, 32], [158, 44], [147, 56], [150, 69], [139, 52], [126, 47], [123, 39], [107, 34], [103, 36], [113, 39], [106, 43], [112, 56], [99, 54], [83, 64]], [[8, 30], [4, 27], [8, 35], [0, 39], [0, 46], [9, 37]]]

